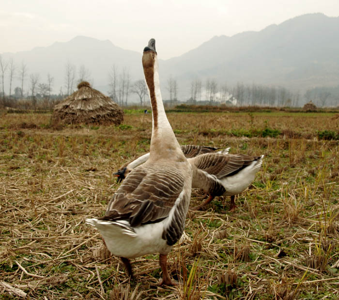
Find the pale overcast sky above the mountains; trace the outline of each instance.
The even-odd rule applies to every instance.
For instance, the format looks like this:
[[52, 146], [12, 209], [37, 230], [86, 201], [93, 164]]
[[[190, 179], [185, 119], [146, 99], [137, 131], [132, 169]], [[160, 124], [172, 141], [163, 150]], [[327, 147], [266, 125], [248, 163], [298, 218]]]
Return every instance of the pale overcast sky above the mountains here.
[[318, 12], [339, 16], [339, 0], [0, 0], [0, 53], [77, 35], [141, 52], [154, 37], [159, 57], [168, 59], [215, 35]]

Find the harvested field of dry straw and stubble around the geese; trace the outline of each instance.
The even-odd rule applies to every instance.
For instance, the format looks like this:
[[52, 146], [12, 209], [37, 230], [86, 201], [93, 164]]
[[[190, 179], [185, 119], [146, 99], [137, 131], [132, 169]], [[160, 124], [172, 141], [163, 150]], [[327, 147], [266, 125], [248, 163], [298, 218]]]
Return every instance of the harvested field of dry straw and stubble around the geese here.
[[[84, 222], [104, 214], [112, 173], [149, 150], [151, 114], [127, 111], [121, 126], [0, 117], [0, 299], [339, 298], [338, 114], [168, 114], [181, 144], [265, 156], [234, 212], [226, 197], [188, 212], [169, 254], [175, 287], [156, 286], [157, 255], [132, 261], [129, 282]], [[191, 206], [202, 197], [193, 190]]]

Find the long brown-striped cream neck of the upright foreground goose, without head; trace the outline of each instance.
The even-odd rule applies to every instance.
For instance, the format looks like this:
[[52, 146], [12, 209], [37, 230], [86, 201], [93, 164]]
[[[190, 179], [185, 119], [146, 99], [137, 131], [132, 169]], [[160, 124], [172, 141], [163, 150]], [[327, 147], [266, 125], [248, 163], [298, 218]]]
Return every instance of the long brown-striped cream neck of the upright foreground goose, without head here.
[[167, 119], [162, 102], [156, 56], [152, 68], [144, 68], [144, 72], [153, 114], [150, 159], [169, 158], [173, 156], [174, 153], [179, 153], [180, 155], [180, 152], [182, 154], [180, 145]]

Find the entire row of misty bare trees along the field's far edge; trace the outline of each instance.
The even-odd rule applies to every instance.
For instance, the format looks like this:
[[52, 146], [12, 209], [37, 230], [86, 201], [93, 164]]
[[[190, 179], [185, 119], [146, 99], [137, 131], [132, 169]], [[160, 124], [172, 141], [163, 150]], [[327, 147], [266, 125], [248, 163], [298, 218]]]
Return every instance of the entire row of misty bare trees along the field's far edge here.
[[[14, 79], [19, 82], [19, 85], [15, 87]], [[26, 63], [15, 64], [13, 58], [5, 60], [0, 55], [1, 106], [13, 106], [17, 99], [28, 99], [31, 100], [30, 103], [34, 109], [38, 104], [52, 109], [57, 102], [71, 95], [77, 84], [84, 80], [93, 84], [91, 71], [83, 64], [77, 68], [75, 64], [67, 62], [64, 66], [64, 84], [57, 94], [52, 94], [54, 77], [51, 74], [48, 73], [46, 78], [42, 79], [37, 73], [29, 73]], [[5, 82], [8, 87], [7, 91], [5, 91]], [[28, 85], [26, 91], [24, 91], [25, 84]], [[148, 96], [145, 81], [144, 79], [132, 81], [127, 68], [119, 69], [113, 64], [108, 72], [108, 86], [108, 95], [118, 105], [127, 106], [131, 94], [138, 96], [141, 106], [145, 105], [145, 98]], [[338, 106], [339, 102], [339, 86], [316, 87], [301, 95], [300, 92], [291, 92], [279, 86], [249, 85], [240, 82], [228, 86], [227, 83], [219, 83], [216, 79], [207, 78], [204, 82], [201, 79], [192, 79], [189, 89], [190, 97], [185, 100], [191, 104], [298, 107], [305, 101], [312, 101], [318, 107], [324, 107], [326, 105]], [[170, 76], [166, 81], [166, 91], [168, 97], [165, 103], [171, 105], [178, 103], [179, 85], [176, 78]]]

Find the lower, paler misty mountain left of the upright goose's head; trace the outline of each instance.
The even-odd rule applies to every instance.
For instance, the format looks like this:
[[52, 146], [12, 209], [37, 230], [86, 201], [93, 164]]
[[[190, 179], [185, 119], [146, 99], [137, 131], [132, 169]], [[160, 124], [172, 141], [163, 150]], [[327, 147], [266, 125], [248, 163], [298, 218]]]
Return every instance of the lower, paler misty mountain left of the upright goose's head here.
[[[89, 69], [93, 87], [103, 88], [104, 93], [107, 93], [108, 72], [113, 64], [116, 65], [118, 73], [125, 68], [129, 70], [132, 79], [143, 78], [141, 52], [125, 50], [114, 46], [108, 40], [100, 41], [86, 36], [77, 36], [65, 43], [56, 42], [49, 47], [35, 47], [30, 51], [4, 53], [3, 56], [5, 59], [13, 57], [18, 65], [24, 62], [28, 73], [39, 74], [43, 82], [46, 81], [47, 73], [51, 74], [54, 77], [54, 93], [58, 93], [61, 86], [65, 93], [67, 63], [75, 65], [77, 71], [81, 65]], [[26, 82], [28, 84], [28, 78]]]

